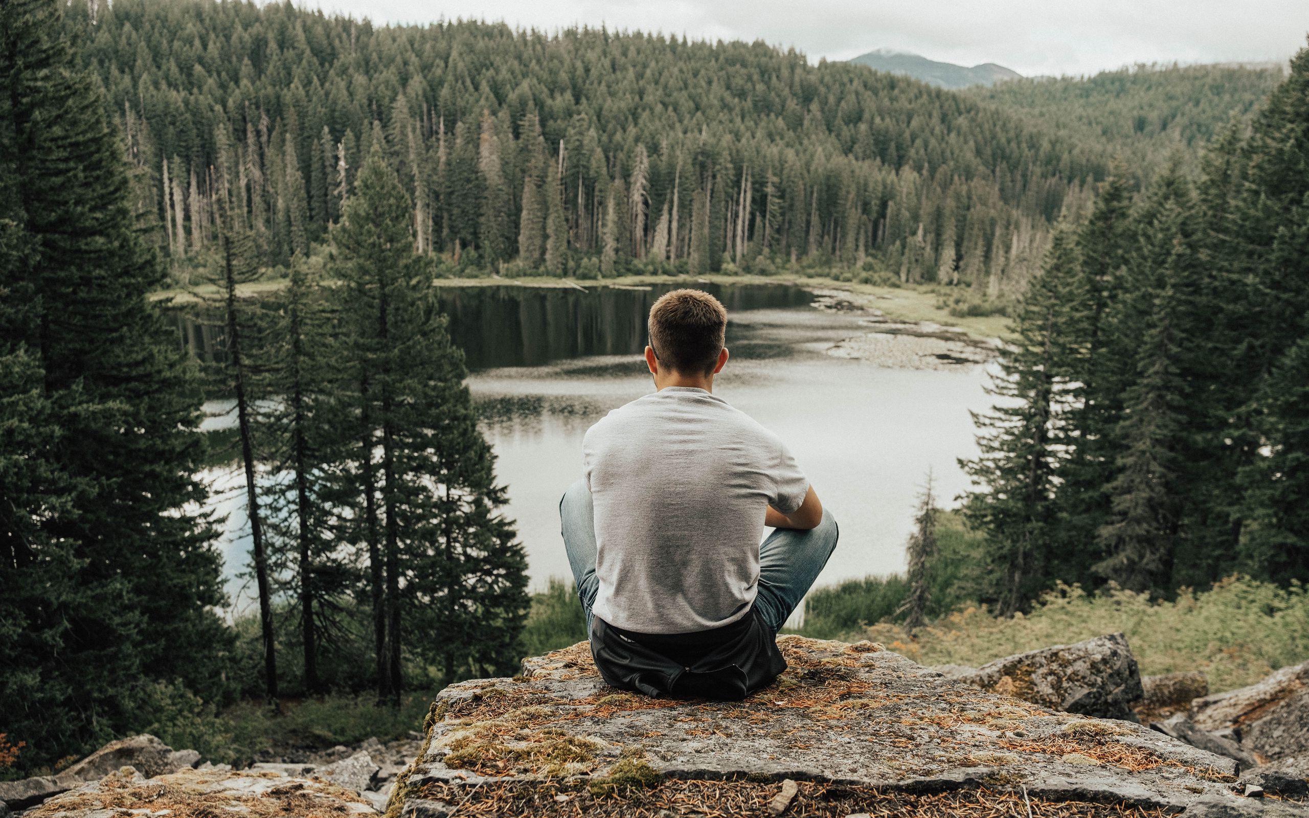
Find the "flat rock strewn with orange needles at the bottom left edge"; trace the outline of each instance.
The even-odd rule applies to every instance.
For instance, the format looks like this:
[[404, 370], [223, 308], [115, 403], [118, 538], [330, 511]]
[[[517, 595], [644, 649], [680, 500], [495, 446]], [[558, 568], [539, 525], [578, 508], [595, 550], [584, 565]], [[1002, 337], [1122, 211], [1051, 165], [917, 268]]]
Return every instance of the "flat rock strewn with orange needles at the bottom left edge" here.
[[372, 805], [327, 781], [288, 779], [276, 772], [191, 770], [144, 777], [131, 768], [50, 798], [24, 818], [109, 818], [110, 815], [373, 815]]

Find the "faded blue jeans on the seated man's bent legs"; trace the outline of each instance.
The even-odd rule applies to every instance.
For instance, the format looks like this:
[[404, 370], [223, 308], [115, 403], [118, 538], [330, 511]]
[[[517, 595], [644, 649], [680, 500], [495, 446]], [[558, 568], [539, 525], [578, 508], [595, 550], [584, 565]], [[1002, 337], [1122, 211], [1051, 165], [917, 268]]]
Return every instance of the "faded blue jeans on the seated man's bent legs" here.
[[[559, 500], [559, 522], [589, 633], [600, 578], [596, 576], [596, 509], [584, 480], [569, 486]], [[818, 527], [808, 531], [778, 529], [759, 546], [759, 592], [754, 606], [774, 633], [781, 630], [818, 578], [836, 548], [839, 534], [836, 520], [823, 509]]]

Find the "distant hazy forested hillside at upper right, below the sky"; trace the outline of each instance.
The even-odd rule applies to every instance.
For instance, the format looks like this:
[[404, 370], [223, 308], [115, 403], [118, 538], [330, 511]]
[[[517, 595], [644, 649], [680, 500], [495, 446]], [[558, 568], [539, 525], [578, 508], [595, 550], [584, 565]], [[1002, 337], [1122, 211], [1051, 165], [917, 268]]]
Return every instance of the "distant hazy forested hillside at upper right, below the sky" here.
[[1190, 160], [1285, 76], [1278, 67], [1134, 65], [1089, 77], [1033, 77], [974, 86], [1029, 126], [1118, 156], [1138, 182], [1174, 156]]

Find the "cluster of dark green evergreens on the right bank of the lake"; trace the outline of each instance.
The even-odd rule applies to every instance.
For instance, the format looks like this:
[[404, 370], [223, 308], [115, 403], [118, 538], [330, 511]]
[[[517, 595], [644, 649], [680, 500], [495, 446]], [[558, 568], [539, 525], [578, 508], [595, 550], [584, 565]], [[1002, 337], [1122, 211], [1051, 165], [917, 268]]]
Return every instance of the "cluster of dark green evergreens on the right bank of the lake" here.
[[1013, 611], [1056, 580], [1309, 581], [1309, 50], [1191, 178], [1106, 181], [1014, 318], [965, 512]]

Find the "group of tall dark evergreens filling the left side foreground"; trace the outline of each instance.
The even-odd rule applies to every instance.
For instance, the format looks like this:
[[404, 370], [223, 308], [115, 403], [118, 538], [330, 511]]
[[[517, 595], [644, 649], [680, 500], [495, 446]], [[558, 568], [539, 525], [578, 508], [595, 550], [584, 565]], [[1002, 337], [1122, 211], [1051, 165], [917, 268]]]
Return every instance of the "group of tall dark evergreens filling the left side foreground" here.
[[[0, 5], [0, 726], [17, 768], [212, 721], [260, 687], [373, 686], [399, 704], [406, 683], [508, 671], [525, 558], [386, 137], [326, 263], [297, 253], [262, 302], [238, 296], [263, 249], [237, 154], [219, 152], [198, 275], [216, 285], [206, 313], [224, 356], [196, 377], [148, 301], [166, 267], [60, 5]], [[219, 521], [198, 476], [213, 380], [234, 397], [258, 656], [220, 616]]]

